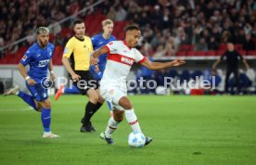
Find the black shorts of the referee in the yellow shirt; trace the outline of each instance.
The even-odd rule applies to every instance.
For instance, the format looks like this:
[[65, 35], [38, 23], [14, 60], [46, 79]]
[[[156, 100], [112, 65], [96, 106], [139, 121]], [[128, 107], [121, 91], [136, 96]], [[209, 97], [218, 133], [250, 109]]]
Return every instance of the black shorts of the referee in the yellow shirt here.
[[81, 76], [81, 79], [77, 82], [73, 81], [73, 84], [81, 92], [82, 95], [86, 95], [89, 89], [98, 89], [99, 84], [94, 79], [92, 73], [89, 70], [74, 70], [74, 72]]

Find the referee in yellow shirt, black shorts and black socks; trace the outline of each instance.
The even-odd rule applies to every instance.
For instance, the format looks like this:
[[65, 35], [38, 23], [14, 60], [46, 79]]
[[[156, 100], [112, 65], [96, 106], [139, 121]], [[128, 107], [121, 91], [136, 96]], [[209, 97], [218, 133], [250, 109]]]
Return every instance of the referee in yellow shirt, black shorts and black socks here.
[[90, 37], [84, 35], [85, 25], [82, 19], [76, 19], [73, 22], [73, 31], [75, 34], [65, 46], [62, 63], [69, 71], [73, 84], [82, 95], [89, 97], [80, 131], [95, 132], [91, 118], [102, 106], [104, 99], [99, 95], [99, 85], [89, 71], [90, 55], [94, 52], [93, 44]]

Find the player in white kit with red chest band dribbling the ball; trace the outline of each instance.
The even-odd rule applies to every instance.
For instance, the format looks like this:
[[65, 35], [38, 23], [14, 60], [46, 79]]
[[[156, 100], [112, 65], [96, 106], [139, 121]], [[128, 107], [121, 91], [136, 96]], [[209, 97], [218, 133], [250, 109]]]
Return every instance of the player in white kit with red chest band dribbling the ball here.
[[[139, 28], [135, 25], [130, 25], [125, 31], [125, 41], [112, 41], [102, 46], [91, 56], [91, 64], [95, 64], [97, 57], [108, 53], [106, 69], [100, 83], [100, 95], [112, 104], [113, 116], [109, 119], [106, 131], [100, 133], [100, 137], [105, 139], [109, 145], [115, 144], [111, 134], [118, 128], [124, 113], [133, 131], [141, 133], [134, 107], [127, 97], [126, 89], [126, 77], [134, 62], [147, 67], [149, 70], [167, 69], [185, 63], [182, 59], [163, 63], [150, 62], [147, 57], [144, 57], [134, 48], [138, 44], [140, 36]], [[151, 141], [151, 137], [146, 137], [145, 146]]]

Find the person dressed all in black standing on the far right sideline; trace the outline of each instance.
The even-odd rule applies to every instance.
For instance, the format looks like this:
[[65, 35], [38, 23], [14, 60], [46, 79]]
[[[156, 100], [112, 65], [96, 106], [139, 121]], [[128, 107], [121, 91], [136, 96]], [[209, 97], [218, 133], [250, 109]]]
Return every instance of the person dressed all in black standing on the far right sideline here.
[[224, 92], [228, 93], [228, 80], [231, 73], [234, 73], [236, 85], [237, 85], [237, 92], [240, 92], [240, 84], [239, 84], [239, 60], [242, 60], [246, 69], [249, 70], [250, 66], [247, 63], [246, 59], [243, 58], [235, 49], [233, 43], [227, 44], [227, 51], [224, 52], [224, 55], [218, 59], [212, 66], [212, 70], [216, 70], [217, 65], [225, 59], [226, 63], [226, 73], [225, 73], [225, 80], [224, 80]]

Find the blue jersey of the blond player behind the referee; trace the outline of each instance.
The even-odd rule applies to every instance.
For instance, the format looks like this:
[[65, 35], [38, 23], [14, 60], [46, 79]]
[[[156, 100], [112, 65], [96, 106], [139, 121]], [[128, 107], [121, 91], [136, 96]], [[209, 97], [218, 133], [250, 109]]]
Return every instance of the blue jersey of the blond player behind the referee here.
[[[93, 36], [91, 39], [92, 39], [94, 50], [102, 47], [103, 45], [109, 44], [109, 42], [111, 41], [116, 41], [116, 37], [114, 37], [113, 35], [110, 35], [109, 39], [106, 40], [102, 36], [102, 33], [99, 33], [96, 36]], [[107, 56], [108, 56], [107, 54], [104, 54], [98, 57], [99, 59], [98, 68], [101, 72], [105, 70], [105, 66], [107, 63]]]

